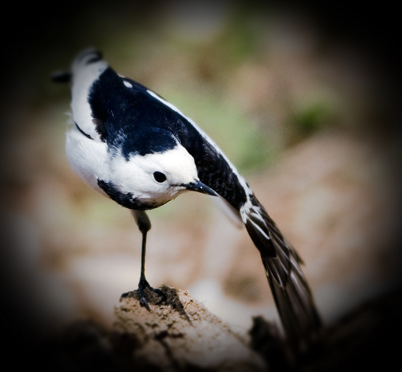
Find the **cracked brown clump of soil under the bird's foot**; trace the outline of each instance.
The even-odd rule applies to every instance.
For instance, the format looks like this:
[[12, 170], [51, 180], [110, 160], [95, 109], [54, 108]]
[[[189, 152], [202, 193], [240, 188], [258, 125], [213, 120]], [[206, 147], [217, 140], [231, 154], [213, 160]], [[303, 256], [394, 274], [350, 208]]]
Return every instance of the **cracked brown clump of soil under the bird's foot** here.
[[150, 310], [131, 292], [116, 306], [115, 332], [135, 335], [133, 358], [163, 370], [265, 370], [263, 359], [187, 291], [162, 287], [166, 296], [147, 291]]

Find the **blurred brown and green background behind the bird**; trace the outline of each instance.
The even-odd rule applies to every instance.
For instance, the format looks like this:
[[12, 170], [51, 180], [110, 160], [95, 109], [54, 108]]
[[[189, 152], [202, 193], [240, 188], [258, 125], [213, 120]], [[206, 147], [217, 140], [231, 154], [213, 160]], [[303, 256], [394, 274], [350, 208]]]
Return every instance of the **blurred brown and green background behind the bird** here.
[[[77, 318], [110, 326], [120, 295], [138, 285], [141, 234], [130, 212], [83, 184], [64, 153], [69, 87], [50, 76], [90, 46], [227, 154], [303, 257], [326, 324], [399, 284], [392, 11], [81, 3], [15, 9], [3, 31], [1, 285], [10, 319], [44, 331]], [[276, 310], [257, 249], [211, 199], [188, 193], [149, 212], [146, 276], [153, 287], [189, 290], [246, 333], [253, 316], [277, 320]]]

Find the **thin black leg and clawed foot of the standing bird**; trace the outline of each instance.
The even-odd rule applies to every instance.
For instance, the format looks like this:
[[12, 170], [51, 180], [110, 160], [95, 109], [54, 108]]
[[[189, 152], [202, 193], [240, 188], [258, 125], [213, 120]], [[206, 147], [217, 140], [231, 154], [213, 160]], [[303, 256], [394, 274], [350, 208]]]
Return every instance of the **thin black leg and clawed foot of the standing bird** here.
[[142, 233], [142, 245], [141, 245], [141, 274], [140, 274], [140, 282], [138, 283], [137, 295], [140, 300], [141, 306], [149, 309], [148, 301], [145, 297], [145, 289], [148, 288], [150, 291], [157, 293], [162, 298], [165, 298], [164, 293], [159, 290], [152, 288], [148, 281], [145, 278], [145, 252], [146, 252], [146, 244], [147, 244], [147, 233], [151, 229], [151, 222], [149, 221], [148, 216], [144, 211], [133, 211], [133, 216], [136, 219], [138, 228]]

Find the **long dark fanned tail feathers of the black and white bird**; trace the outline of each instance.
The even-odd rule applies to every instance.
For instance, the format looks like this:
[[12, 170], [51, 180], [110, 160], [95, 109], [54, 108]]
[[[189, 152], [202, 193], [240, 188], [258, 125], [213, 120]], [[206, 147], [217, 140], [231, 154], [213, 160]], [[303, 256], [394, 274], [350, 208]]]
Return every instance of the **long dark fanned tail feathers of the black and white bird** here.
[[321, 320], [300, 268], [303, 261], [254, 195], [250, 196], [250, 205], [243, 220], [261, 253], [285, 334], [293, 349], [307, 351], [318, 337]]

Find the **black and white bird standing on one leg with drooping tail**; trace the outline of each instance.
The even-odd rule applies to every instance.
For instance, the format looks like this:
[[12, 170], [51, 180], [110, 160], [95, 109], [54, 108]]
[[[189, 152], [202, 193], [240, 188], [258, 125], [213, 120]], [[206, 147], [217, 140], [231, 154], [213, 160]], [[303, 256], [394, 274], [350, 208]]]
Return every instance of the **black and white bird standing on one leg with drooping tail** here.
[[54, 81], [70, 82], [66, 157], [96, 192], [131, 210], [142, 234], [137, 295], [150, 310], [145, 277], [146, 211], [192, 191], [213, 196], [245, 226], [258, 249], [284, 333], [306, 348], [322, 326], [304, 262], [285, 240], [249, 184], [216, 143], [175, 106], [118, 74], [97, 49], [80, 52]]

